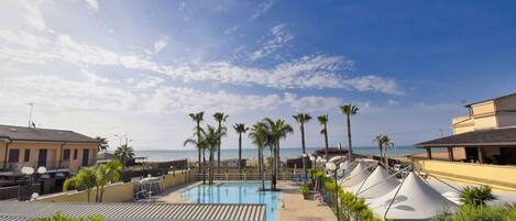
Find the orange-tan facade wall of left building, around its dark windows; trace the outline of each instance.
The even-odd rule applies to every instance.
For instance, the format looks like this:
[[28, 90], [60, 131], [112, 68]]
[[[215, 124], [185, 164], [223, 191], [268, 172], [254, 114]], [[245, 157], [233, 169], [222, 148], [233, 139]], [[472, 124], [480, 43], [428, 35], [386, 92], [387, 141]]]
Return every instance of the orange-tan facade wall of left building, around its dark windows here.
[[[3, 148], [0, 151], [0, 161], [3, 162], [6, 159], [6, 143], [0, 144]], [[61, 155], [62, 155], [62, 146], [63, 143], [61, 142], [12, 142], [9, 144], [9, 152], [8, 152], [8, 161], [9, 161], [9, 153], [13, 150], [19, 150], [19, 157], [18, 157], [18, 169], [22, 168], [23, 166], [36, 166], [36, 162], [39, 159], [40, 150], [47, 150], [47, 165], [50, 167], [57, 167], [59, 164]], [[70, 150], [70, 159], [63, 161], [63, 163], [69, 162], [69, 169], [77, 170], [83, 164], [83, 150], [89, 150], [89, 158], [91, 162], [95, 162], [97, 158], [97, 144], [89, 144], [89, 143], [67, 143], [63, 146], [63, 148]], [[28, 162], [24, 161], [25, 150], [30, 150], [30, 158]], [[74, 159], [74, 150], [78, 150], [77, 159]], [[66, 165], [66, 164], [62, 164]], [[3, 165], [0, 165], [3, 166]]]

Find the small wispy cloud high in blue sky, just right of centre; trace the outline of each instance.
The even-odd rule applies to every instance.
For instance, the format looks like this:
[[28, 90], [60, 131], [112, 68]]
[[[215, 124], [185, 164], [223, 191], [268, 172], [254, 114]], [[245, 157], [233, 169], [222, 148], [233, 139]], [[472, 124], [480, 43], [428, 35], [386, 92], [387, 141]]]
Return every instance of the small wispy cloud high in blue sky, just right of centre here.
[[271, 29], [272, 38], [264, 42], [262, 47], [250, 54], [252, 60], [260, 59], [271, 55], [276, 49], [283, 47], [294, 38], [294, 35], [285, 30], [285, 24], [278, 24]]

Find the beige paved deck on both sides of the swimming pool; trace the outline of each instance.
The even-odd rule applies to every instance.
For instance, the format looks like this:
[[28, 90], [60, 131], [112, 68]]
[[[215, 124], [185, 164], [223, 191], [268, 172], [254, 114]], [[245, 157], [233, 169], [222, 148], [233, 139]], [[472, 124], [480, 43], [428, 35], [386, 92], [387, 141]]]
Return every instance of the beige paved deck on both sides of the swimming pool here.
[[[177, 190], [200, 181], [182, 185], [168, 189], [156, 202], [182, 203], [184, 202], [177, 195]], [[279, 221], [336, 221], [337, 217], [327, 206], [318, 206], [314, 200], [305, 200], [299, 194], [299, 186], [290, 181], [279, 181], [277, 186], [282, 190], [282, 201], [278, 206]]]

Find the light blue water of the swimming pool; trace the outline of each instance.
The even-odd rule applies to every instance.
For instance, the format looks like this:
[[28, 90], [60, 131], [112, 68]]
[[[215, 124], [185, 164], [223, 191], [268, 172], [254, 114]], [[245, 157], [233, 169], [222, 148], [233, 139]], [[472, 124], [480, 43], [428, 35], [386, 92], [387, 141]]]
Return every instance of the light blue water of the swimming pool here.
[[[268, 187], [265, 183], [265, 187]], [[279, 192], [259, 191], [262, 183], [219, 183], [196, 185], [184, 189], [179, 197], [190, 203], [265, 203], [267, 221], [278, 220]]]

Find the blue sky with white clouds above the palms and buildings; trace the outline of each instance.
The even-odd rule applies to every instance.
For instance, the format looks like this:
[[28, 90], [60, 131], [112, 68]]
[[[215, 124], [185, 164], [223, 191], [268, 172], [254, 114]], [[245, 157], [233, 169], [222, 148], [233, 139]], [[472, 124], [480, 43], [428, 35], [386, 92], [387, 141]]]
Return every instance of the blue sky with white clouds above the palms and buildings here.
[[[0, 124], [185, 150], [188, 113], [234, 123], [307, 112], [307, 146], [377, 134], [411, 145], [451, 133], [466, 102], [515, 92], [514, 1], [0, 1]], [[253, 148], [243, 139], [244, 148]], [[112, 148], [113, 148], [112, 147]]]

